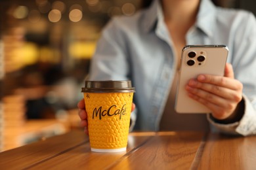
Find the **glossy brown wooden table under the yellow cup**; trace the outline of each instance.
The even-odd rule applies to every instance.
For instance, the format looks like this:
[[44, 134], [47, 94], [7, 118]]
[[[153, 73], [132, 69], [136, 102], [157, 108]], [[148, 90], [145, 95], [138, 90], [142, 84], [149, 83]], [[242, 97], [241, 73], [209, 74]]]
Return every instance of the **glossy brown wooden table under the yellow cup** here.
[[256, 169], [256, 136], [137, 132], [126, 152], [97, 153], [83, 131], [70, 131], [0, 152], [0, 169]]

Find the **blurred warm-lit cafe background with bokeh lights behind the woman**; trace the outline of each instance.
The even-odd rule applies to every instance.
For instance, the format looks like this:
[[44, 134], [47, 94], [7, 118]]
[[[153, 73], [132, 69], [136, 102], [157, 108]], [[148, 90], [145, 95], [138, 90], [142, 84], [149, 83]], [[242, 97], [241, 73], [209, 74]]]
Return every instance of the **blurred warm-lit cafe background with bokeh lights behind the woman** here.
[[[81, 128], [77, 102], [100, 31], [141, 2], [0, 1], [0, 152]], [[255, 12], [253, 0], [216, 3]]]

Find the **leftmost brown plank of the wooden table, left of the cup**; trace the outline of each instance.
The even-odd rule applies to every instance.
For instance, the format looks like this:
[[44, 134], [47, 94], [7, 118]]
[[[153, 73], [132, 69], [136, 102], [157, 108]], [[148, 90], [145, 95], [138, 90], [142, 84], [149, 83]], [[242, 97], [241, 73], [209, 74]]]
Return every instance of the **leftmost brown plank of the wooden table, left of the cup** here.
[[45, 141], [28, 144], [5, 152], [0, 152], [0, 169], [24, 169], [60, 156], [72, 148], [88, 143], [83, 131], [72, 131], [51, 137]]

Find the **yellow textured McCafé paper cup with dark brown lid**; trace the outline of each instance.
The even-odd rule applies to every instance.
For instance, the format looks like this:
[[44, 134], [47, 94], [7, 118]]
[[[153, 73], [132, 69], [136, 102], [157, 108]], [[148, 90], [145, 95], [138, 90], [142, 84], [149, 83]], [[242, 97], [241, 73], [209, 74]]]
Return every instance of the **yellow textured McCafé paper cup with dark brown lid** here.
[[135, 92], [131, 81], [85, 81], [82, 92], [91, 150], [125, 151]]

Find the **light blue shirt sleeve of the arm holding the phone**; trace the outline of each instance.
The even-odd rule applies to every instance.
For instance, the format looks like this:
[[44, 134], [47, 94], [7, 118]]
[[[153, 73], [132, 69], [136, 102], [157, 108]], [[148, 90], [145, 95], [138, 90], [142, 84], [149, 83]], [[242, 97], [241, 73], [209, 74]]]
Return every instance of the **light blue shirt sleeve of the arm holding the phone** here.
[[[240, 16], [242, 17], [242, 16]], [[242, 23], [236, 25], [238, 31], [234, 35], [234, 50], [232, 65], [236, 79], [244, 85], [243, 99], [245, 103], [244, 116], [239, 122], [219, 124], [210, 116], [207, 119], [215, 129], [228, 134], [256, 134], [256, 20], [249, 12], [244, 13]], [[243, 31], [240, 29], [243, 29]]]

